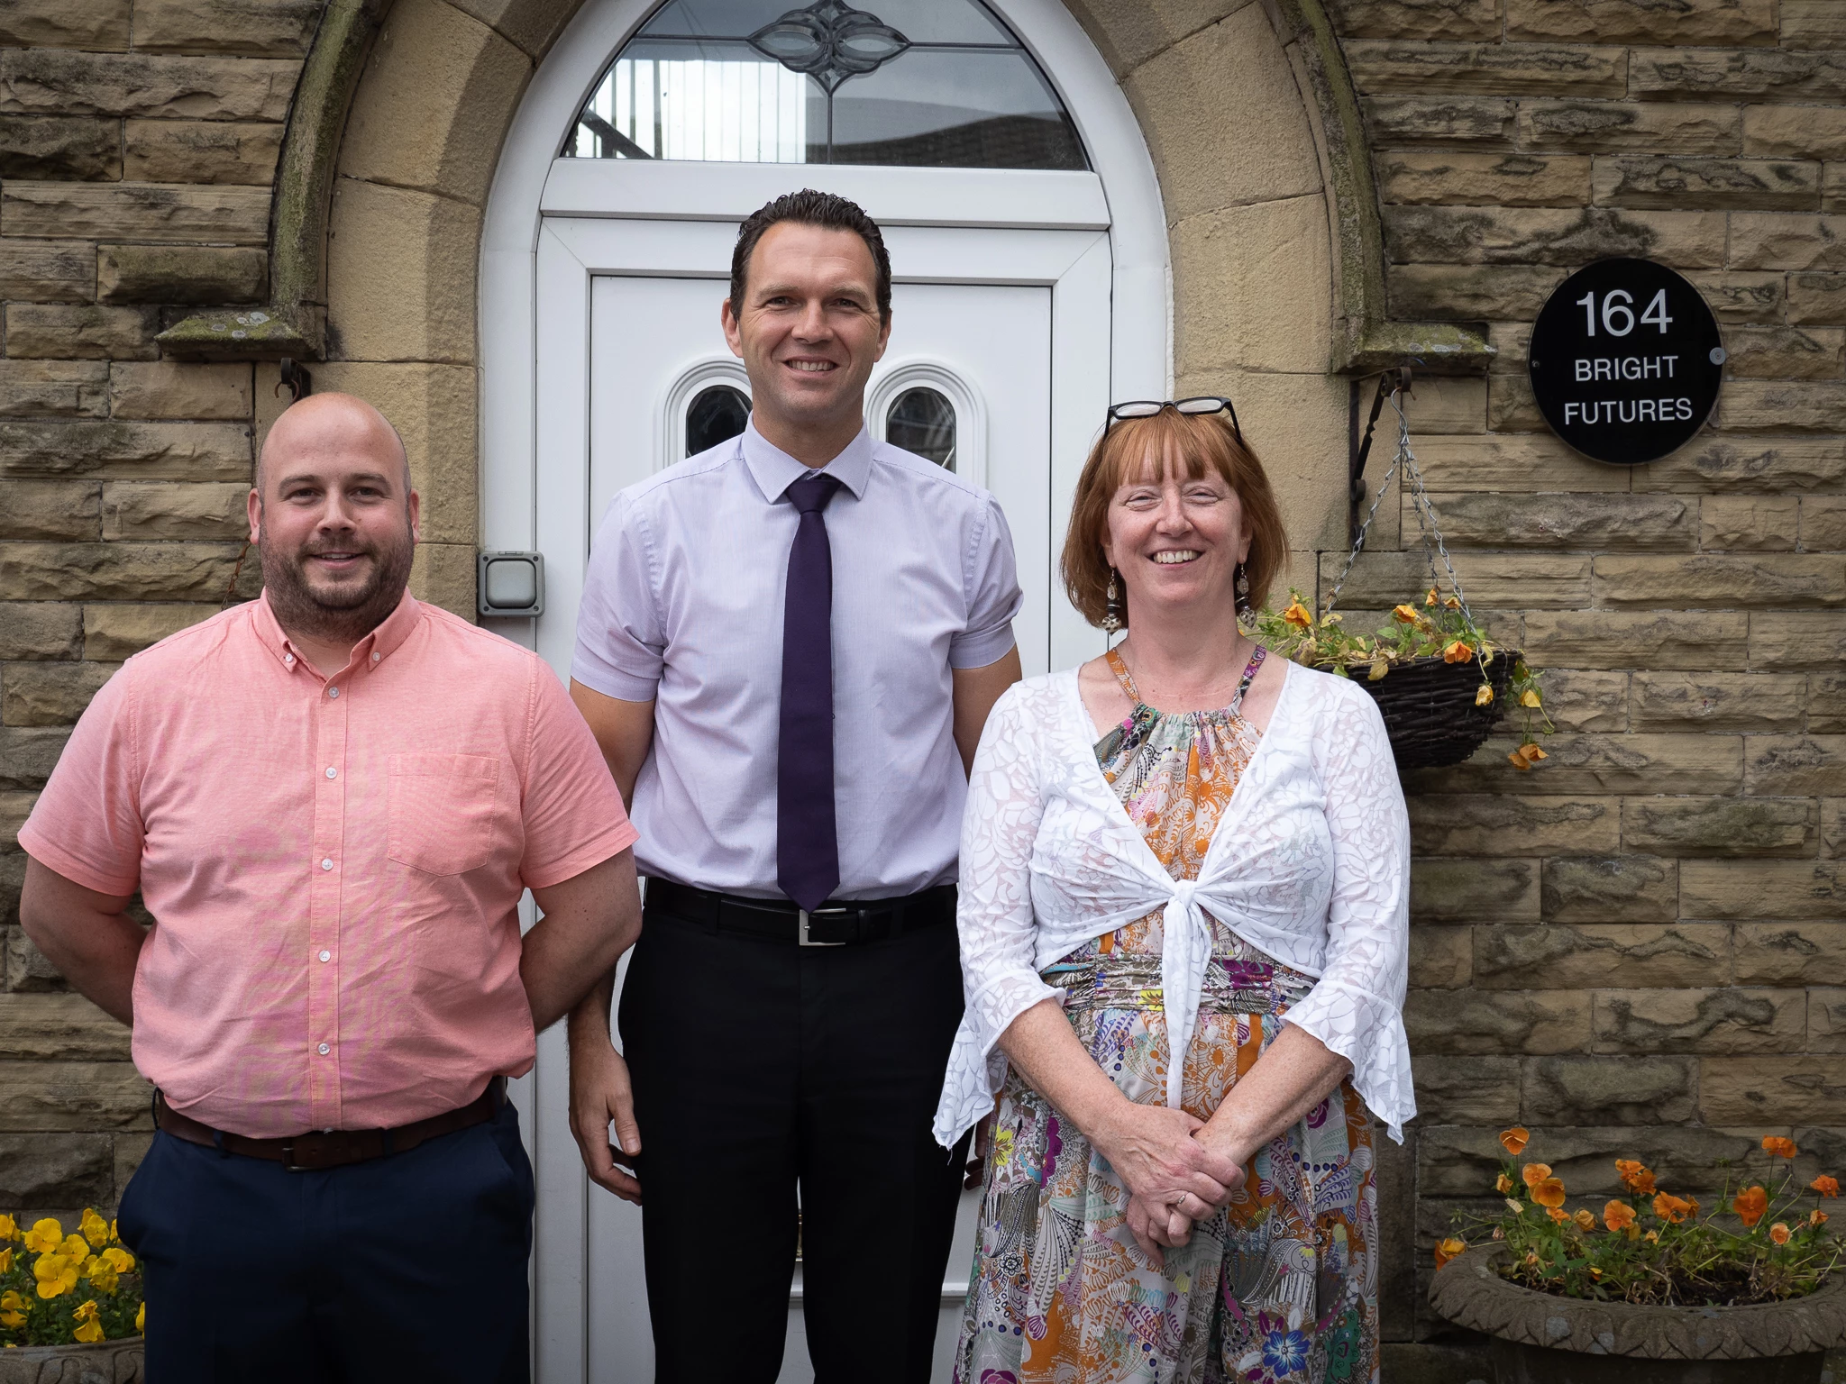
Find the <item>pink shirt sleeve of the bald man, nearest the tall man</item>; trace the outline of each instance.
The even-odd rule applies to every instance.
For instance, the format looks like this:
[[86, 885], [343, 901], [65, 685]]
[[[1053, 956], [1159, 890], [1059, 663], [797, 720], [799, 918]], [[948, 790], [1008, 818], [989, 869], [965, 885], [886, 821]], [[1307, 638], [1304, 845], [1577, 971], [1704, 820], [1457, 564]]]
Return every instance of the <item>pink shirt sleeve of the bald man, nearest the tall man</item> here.
[[521, 816], [526, 849], [519, 877], [528, 889], [581, 875], [641, 836], [622, 810], [596, 736], [552, 670], [537, 661]]

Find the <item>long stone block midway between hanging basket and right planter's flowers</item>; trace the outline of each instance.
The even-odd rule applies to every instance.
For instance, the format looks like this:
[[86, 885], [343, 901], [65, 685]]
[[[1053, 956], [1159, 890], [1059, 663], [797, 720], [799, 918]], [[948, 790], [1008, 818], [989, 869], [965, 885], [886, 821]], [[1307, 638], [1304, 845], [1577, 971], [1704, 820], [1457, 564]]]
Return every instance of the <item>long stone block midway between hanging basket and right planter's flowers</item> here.
[[1475, 928], [1475, 985], [1486, 991], [1589, 991], [1602, 985], [1722, 985], [1722, 923], [1552, 923]]

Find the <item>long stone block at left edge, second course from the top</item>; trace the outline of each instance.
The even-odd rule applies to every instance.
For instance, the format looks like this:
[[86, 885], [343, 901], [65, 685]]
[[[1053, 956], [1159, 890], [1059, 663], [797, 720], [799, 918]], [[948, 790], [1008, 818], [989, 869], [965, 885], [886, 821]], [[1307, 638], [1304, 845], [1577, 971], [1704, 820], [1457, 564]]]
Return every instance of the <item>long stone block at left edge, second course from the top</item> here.
[[159, 57], [0, 52], [0, 113], [190, 120], [286, 120], [301, 63], [264, 57]]

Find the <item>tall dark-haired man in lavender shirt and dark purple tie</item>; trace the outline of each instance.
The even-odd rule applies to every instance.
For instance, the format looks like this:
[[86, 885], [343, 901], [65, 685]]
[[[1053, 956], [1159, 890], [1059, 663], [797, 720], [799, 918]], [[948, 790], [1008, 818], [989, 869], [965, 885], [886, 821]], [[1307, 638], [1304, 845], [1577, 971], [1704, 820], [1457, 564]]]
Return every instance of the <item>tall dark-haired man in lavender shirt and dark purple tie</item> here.
[[746, 220], [722, 321], [749, 426], [622, 491], [583, 585], [570, 696], [648, 891], [626, 1063], [611, 974], [570, 1015], [570, 1120], [642, 1207], [672, 1384], [777, 1377], [797, 1188], [816, 1378], [930, 1371], [962, 799], [1021, 592], [993, 496], [866, 432], [890, 286], [842, 197]]

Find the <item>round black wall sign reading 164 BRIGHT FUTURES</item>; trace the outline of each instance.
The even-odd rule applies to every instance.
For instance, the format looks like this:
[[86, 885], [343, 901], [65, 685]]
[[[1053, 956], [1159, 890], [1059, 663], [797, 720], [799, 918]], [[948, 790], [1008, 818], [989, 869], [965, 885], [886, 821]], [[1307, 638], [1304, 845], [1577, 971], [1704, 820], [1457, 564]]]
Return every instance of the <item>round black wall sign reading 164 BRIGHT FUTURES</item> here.
[[1532, 393], [1545, 423], [1597, 461], [1634, 465], [1684, 447], [1719, 400], [1724, 343], [1704, 297], [1652, 260], [1600, 260], [1532, 325]]

